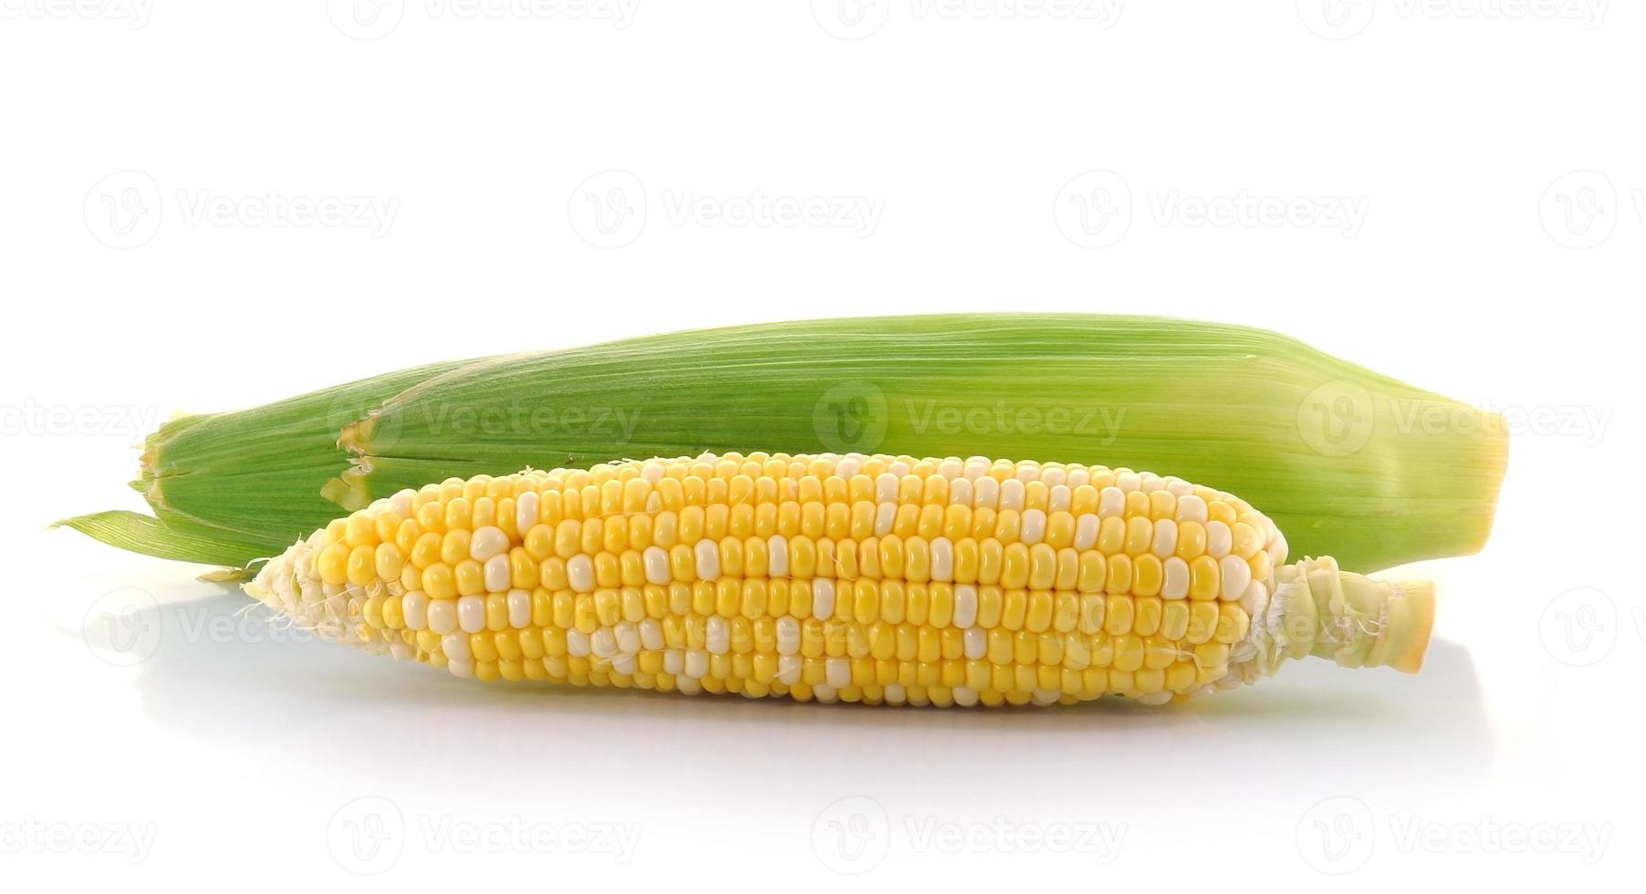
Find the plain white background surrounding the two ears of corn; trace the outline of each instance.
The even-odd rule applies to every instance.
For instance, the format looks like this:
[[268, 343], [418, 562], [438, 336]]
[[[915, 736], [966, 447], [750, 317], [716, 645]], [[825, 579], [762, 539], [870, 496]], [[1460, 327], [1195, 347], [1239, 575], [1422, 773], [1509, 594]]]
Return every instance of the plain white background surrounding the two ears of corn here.
[[[1638, 3], [360, 2], [0, 0], [8, 887], [1646, 868]], [[872, 216], [724, 222], [756, 196]], [[1243, 203], [1297, 211], [1220, 216]], [[268, 642], [201, 568], [43, 530], [140, 507], [137, 420], [179, 408], [950, 310], [1269, 326], [1508, 410], [1490, 547], [1402, 570], [1440, 584], [1425, 672], [1312, 662], [1169, 710], [520, 693]], [[133, 598], [163, 622], [122, 667], [81, 629]], [[614, 828], [632, 851], [573, 853]]]

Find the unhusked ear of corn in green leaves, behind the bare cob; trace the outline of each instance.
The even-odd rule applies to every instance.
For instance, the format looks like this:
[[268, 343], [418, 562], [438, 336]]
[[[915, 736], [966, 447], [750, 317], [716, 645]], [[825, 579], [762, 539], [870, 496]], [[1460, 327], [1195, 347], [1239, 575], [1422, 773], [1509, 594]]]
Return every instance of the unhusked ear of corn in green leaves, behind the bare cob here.
[[1035, 456], [1172, 469], [1241, 492], [1307, 553], [1376, 570], [1485, 543], [1500, 423], [1239, 326], [823, 319], [423, 367], [199, 417], [150, 440], [135, 484], [161, 522], [290, 542], [337, 505], [528, 463], [756, 446]]

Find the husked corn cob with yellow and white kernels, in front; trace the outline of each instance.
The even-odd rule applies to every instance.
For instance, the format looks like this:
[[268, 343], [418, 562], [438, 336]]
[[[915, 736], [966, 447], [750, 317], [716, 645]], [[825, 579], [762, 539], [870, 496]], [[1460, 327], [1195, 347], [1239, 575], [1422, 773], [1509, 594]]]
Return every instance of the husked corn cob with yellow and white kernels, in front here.
[[1417, 670], [1427, 584], [1286, 560], [1266, 515], [1179, 477], [728, 453], [405, 489], [245, 589], [479, 680], [1022, 705], [1164, 703], [1305, 655]]

